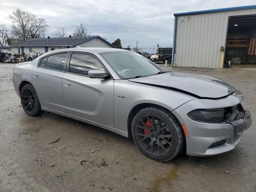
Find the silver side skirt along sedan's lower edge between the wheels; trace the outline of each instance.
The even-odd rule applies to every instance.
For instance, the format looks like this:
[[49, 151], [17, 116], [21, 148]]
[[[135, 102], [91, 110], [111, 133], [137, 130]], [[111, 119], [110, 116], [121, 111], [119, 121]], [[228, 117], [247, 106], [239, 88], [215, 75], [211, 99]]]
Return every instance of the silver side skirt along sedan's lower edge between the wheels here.
[[42, 107], [41, 106], [41, 108], [44, 111], [56, 113], [58, 115], [62, 115], [62, 116], [68, 117], [68, 118], [72, 118], [72, 119], [75, 119], [75, 120], [78, 120], [78, 121], [82, 121], [82, 122], [85, 122], [85, 123], [88, 123], [88, 124], [91, 124], [91, 125], [94, 125], [94, 126], [106, 129], [106, 130], [109, 130], [111, 132], [117, 133], [119, 135], [128, 137], [128, 132], [125, 132], [125, 131], [122, 131], [122, 130], [118, 130], [118, 129], [115, 129], [113, 127], [106, 126], [106, 125], [103, 125], [103, 124], [100, 124], [100, 123], [96, 123], [94, 121], [86, 120], [86, 119], [83, 119], [83, 118], [80, 118], [80, 117], [77, 117], [77, 116], [74, 116], [74, 115], [70, 115], [70, 114], [67, 114], [67, 113], [64, 113], [64, 112], [53, 110], [53, 109], [50, 109], [50, 108], [47, 108], [47, 107]]

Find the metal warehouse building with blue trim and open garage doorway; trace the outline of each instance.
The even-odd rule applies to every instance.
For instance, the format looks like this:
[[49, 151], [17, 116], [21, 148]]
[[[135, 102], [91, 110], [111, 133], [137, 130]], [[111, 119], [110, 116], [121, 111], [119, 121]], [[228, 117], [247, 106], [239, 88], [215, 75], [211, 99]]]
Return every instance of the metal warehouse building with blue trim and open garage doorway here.
[[174, 14], [173, 66], [256, 64], [256, 5]]

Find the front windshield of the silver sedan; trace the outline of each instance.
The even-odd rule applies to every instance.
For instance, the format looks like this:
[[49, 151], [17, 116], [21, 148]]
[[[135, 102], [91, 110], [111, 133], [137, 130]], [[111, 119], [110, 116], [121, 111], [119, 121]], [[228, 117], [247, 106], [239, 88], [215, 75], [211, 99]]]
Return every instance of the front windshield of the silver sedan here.
[[135, 52], [100, 53], [121, 79], [138, 78], [165, 71]]

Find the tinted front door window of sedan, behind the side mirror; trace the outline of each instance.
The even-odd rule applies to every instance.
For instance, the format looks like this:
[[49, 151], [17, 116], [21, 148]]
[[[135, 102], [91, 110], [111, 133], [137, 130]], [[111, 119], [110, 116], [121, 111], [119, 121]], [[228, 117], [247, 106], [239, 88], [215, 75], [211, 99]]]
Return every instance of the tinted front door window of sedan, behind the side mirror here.
[[88, 71], [95, 69], [104, 71], [104, 68], [94, 56], [82, 53], [72, 53], [69, 65], [70, 73], [88, 76]]

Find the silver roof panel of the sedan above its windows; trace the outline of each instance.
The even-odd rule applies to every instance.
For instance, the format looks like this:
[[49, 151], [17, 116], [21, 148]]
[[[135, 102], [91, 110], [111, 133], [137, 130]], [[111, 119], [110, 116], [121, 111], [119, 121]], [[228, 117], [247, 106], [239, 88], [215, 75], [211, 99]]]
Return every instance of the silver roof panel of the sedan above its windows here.
[[90, 52], [90, 53], [106, 53], [106, 52], [130, 52], [125, 49], [118, 48], [104, 48], [104, 47], [76, 47], [76, 48], [66, 48], [66, 49], [57, 49], [54, 51], [47, 52], [47, 54], [57, 53], [57, 52], [65, 52], [65, 51], [82, 51], [82, 52]]

